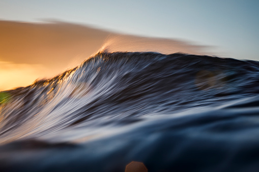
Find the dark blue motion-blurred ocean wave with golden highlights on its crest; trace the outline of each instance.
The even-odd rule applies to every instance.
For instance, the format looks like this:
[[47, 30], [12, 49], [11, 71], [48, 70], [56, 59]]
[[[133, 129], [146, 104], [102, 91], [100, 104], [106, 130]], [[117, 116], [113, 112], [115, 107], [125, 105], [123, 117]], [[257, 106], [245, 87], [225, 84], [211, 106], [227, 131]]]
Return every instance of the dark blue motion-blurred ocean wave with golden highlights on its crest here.
[[100, 52], [0, 93], [0, 169], [258, 171], [258, 93], [257, 61]]

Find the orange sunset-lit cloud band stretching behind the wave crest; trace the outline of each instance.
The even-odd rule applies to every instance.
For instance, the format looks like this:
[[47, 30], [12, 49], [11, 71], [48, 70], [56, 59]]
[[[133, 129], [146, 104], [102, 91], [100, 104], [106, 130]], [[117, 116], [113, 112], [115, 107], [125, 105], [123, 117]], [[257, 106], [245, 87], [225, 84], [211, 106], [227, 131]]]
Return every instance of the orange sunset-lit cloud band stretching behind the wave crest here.
[[122, 35], [59, 21], [0, 20], [0, 38], [0, 90], [26, 86], [38, 78], [54, 77], [80, 64], [101, 47], [111, 52], [206, 54], [205, 46], [185, 41]]

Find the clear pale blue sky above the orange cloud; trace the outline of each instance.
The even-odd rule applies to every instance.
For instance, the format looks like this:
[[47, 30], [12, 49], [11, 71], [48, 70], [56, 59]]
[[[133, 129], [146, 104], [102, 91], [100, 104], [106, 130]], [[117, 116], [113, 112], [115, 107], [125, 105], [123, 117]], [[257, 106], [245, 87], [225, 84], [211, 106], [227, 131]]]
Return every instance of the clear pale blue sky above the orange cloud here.
[[259, 1], [0, 1], [0, 19], [56, 19], [138, 36], [215, 46], [259, 60]]

